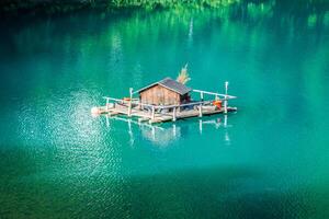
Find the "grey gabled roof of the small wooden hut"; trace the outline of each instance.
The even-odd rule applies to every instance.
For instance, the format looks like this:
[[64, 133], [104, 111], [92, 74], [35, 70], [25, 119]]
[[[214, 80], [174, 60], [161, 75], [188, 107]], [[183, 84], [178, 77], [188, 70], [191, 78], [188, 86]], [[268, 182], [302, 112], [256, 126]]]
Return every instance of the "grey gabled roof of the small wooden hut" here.
[[171, 78], [166, 78], [166, 79], [162, 79], [161, 81], [149, 84], [148, 87], [145, 87], [145, 88], [138, 90], [137, 92], [140, 93], [141, 91], [145, 91], [157, 84], [162, 85], [162, 87], [164, 87], [175, 93], [179, 93], [181, 95], [184, 95], [184, 94], [189, 93], [190, 91], [192, 91], [192, 89], [185, 87], [184, 84], [182, 84], [175, 80], [172, 80]]

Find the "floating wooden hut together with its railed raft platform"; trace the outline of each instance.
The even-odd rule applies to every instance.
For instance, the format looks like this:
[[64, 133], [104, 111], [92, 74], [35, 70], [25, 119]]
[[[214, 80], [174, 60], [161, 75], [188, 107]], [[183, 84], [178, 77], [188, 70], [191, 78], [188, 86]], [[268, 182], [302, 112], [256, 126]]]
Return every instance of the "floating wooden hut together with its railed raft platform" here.
[[[175, 122], [181, 118], [226, 114], [237, 111], [236, 107], [228, 106], [228, 101], [236, 96], [228, 95], [227, 91], [228, 82], [225, 82], [225, 94], [220, 94], [194, 90], [175, 80], [164, 78], [137, 91], [131, 88], [129, 97], [104, 96], [105, 106], [93, 107], [92, 113], [107, 116], [134, 116], [138, 117], [139, 123]], [[193, 93], [198, 94], [200, 100], [192, 100]], [[205, 100], [205, 95], [211, 97]]]

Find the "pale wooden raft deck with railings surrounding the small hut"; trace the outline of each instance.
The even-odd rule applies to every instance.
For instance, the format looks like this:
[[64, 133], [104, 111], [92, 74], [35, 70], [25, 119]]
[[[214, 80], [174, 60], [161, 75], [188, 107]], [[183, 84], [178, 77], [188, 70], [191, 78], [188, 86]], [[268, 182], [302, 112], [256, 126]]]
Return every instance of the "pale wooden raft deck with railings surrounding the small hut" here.
[[[93, 107], [92, 113], [106, 114], [107, 116], [124, 115], [127, 117], [137, 117], [138, 123], [148, 122], [149, 124], [175, 122], [178, 119], [214, 114], [227, 114], [237, 111], [237, 107], [228, 106], [228, 101], [236, 99], [236, 96], [228, 95], [227, 90], [228, 82], [225, 83], [225, 94], [191, 90], [191, 93], [194, 92], [200, 94], [198, 101], [190, 101], [189, 103], [183, 104], [156, 105], [143, 103], [140, 97], [134, 99], [133, 95], [137, 92], [129, 89], [129, 97], [114, 99], [104, 96], [106, 104], [104, 106]], [[213, 99], [204, 101], [205, 95], [211, 95]], [[214, 102], [219, 102], [220, 106], [218, 107]]]

